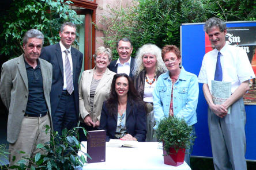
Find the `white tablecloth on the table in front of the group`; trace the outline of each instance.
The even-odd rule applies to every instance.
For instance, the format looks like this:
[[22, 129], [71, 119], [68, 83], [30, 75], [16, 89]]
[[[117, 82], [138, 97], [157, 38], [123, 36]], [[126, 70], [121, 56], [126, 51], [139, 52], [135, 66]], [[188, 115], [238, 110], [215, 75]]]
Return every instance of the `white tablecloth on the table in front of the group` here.
[[[82, 144], [86, 148], [86, 142], [82, 142]], [[178, 167], [165, 165], [163, 150], [159, 146], [159, 142], [138, 142], [138, 148], [106, 147], [106, 162], [85, 164], [83, 169], [191, 170], [185, 161]], [[86, 153], [85, 148], [82, 148], [82, 151]]]

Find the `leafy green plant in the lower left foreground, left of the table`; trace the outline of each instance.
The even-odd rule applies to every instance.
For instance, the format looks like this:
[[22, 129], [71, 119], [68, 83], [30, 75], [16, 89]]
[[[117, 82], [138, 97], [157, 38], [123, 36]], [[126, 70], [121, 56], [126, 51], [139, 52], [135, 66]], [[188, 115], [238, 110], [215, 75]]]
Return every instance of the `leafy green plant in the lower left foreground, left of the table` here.
[[[50, 126], [46, 125], [46, 133], [50, 133], [50, 142], [45, 144], [38, 144], [36, 147], [42, 149], [45, 154], [37, 153], [35, 157], [28, 158], [22, 157], [22, 160], [17, 162], [18, 165], [13, 165], [10, 169], [77, 169], [82, 167], [86, 163], [84, 155], [89, 156], [87, 153], [78, 155], [78, 151], [81, 151], [81, 142], [78, 141], [79, 134], [78, 128], [82, 128], [86, 134], [86, 130], [83, 127], [74, 127], [74, 129], [63, 129], [62, 134], [59, 135], [50, 129]], [[50, 131], [50, 132], [49, 132]], [[24, 153], [24, 152], [23, 152]], [[91, 157], [90, 157], [91, 158]], [[29, 165], [25, 165], [25, 161], [29, 161]]]

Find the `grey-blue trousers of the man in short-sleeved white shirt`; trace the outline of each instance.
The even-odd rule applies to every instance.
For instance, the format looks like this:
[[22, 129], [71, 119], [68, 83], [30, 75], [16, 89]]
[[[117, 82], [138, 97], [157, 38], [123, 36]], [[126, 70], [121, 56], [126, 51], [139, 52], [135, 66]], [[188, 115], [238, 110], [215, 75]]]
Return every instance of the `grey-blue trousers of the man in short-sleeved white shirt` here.
[[231, 106], [231, 114], [217, 117], [208, 107], [208, 126], [215, 169], [246, 170], [246, 113], [243, 98]]

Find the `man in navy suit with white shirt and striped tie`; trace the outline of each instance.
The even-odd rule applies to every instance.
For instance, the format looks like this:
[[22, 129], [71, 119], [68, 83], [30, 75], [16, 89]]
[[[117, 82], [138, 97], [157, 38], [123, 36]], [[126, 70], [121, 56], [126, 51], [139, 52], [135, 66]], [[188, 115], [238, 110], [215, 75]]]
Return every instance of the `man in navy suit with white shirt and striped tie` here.
[[76, 25], [65, 22], [59, 32], [61, 41], [42, 49], [41, 58], [52, 64], [51, 113], [54, 130], [77, 126], [79, 115], [78, 78], [82, 53], [71, 47], [76, 39]]

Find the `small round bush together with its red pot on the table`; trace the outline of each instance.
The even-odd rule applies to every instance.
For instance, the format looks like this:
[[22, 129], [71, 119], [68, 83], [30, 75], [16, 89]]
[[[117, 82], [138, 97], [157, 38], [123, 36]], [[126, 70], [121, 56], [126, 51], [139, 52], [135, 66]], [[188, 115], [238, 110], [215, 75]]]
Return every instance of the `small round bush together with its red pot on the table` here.
[[155, 136], [158, 141], [163, 141], [164, 164], [183, 164], [185, 149], [195, 139], [191, 136], [192, 131], [184, 119], [177, 117], [165, 117], [157, 122]]

